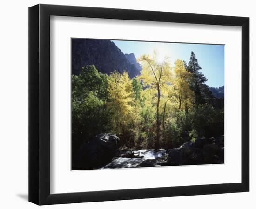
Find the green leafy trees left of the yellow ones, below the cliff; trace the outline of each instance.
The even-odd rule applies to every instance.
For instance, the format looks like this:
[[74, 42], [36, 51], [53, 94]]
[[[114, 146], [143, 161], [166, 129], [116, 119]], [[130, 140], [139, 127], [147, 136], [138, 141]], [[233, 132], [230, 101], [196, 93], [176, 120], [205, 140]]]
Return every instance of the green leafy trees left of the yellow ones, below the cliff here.
[[[108, 132], [108, 76], [94, 65], [83, 67], [79, 76], [72, 75], [72, 150], [100, 132]], [[74, 152], [73, 152], [74, 154]]]

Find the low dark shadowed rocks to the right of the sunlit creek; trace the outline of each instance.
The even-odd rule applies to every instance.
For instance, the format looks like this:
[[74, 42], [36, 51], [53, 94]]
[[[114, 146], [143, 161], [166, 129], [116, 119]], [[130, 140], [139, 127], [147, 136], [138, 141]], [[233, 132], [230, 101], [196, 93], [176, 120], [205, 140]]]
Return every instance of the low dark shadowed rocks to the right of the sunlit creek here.
[[224, 163], [224, 136], [219, 138], [197, 138], [185, 142], [180, 148], [168, 152], [168, 165]]

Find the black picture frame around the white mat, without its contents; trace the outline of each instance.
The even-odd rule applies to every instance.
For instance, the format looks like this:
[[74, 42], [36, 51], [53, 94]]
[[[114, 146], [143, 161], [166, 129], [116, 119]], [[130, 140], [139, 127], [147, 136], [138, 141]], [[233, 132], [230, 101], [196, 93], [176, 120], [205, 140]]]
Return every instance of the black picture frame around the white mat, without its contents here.
[[[50, 194], [50, 16], [242, 26], [241, 183]], [[249, 18], [39, 4], [29, 8], [29, 202], [99, 202], [249, 191]]]

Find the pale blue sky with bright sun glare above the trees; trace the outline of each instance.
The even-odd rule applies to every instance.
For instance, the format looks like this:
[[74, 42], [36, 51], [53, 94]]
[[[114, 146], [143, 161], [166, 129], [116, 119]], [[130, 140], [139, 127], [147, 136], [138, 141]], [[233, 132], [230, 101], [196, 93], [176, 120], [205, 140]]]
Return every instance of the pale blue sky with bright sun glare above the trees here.
[[172, 66], [177, 59], [189, 62], [191, 51], [195, 53], [201, 72], [206, 76], [207, 85], [219, 87], [224, 85], [224, 45], [163, 43], [146, 41], [112, 40], [123, 53], [134, 53], [136, 58], [141, 54], [152, 54], [156, 49], [160, 54], [171, 57]]

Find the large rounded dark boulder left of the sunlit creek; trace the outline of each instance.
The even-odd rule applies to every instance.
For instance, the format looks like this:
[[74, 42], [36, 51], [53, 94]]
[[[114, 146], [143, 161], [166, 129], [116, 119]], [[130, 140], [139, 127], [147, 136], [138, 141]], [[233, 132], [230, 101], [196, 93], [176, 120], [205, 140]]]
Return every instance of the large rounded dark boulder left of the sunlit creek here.
[[114, 134], [98, 134], [78, 150], [72, 170], [98, 169], [110, 163], [115, 157], [119, 140]]

